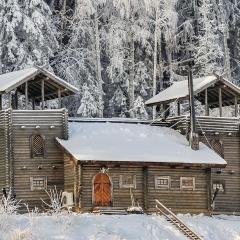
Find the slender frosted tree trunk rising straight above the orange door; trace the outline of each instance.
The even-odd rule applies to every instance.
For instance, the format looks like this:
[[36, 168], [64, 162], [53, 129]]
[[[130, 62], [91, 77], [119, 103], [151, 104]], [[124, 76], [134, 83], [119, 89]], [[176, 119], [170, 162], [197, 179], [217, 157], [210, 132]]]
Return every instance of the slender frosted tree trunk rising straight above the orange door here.
[[100, 39], [98, 29], [98, 17], [97, 13], [94, 14], [95, 22], [95, 50], [96, 50], [96, 75], [97, 75], [97, 87], [98, 87], [98, 104], [99, 104], [99, 117], [103, 117], [103, 89], [102, 89], [102, 75], [101, 75], [101, 50]]

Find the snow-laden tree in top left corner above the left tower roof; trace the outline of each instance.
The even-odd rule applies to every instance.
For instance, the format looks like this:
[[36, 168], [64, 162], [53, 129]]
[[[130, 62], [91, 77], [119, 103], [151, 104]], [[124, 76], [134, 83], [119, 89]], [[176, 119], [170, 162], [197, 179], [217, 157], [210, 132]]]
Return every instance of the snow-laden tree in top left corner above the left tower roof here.
[[49, 66], [58, 48], [51, 10], [43, 0], [0, 3], [0, 72]]

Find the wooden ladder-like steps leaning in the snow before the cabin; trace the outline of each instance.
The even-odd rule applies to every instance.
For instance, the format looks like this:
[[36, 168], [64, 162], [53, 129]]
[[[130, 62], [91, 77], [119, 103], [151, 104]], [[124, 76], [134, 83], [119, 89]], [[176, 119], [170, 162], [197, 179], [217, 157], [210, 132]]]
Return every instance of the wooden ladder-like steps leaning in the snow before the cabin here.
[[183, 223], [169, 208], [164, 206], [161, 202], [156, 200], [157, 212], [161, 213], [168, 222], [173, 224], [179, 231], [181, 231], [187, 238], [191, 240], [203, 240], [193, 230], [191, 230], [185, 223]]

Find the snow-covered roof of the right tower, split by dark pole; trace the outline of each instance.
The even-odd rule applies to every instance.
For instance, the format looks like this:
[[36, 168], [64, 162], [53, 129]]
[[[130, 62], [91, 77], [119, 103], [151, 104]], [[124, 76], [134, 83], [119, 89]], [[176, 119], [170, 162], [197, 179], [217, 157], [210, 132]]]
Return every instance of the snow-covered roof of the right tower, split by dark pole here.
[[[221, 82], [221, 84], [231, 88], [233, 93], [235, 93], [236, 95], [240, 95], [239, 87], [217, 75], [193, 79], [194, 95], [199, 94], [200, 92], [213, 86], [217, 82]], [[217, 89], [215, 90], [217, 91]], [[162, 92], [158, 93], [157, 95], [146, 101], [146, 105], [156, 105], [164, 102], [172, 102], [175, 101], [176, 99], [181, 100], [187, 98], [188, 98], [188, 81], [183, 80], [179, 82], [173, 82], [173, 84], [170, 87], [168, 87], [167, 89], [163, 90]], [[204, 96], [202, 97], [202, 99], [200, 99], [200, 101], [201, 100], [204, 102]], [[209, 98], [209, 100], [211, 99]], [[212, 102], [216, 102], [216, 100], [212, 99]], [[209, 105], [211, 105], [211, 103], [209, 103]]]

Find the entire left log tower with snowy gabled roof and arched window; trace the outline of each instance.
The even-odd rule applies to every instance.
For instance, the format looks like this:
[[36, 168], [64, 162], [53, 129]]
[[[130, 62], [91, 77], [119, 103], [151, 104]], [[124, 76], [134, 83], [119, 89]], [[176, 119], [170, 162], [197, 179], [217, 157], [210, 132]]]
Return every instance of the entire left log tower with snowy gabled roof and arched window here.
[[[63, 189], [63, 156], [55, 138], [68, 138], [68, 114], [61, 100], [77, 91], [40, 68], [0, 76], [0, 188], [11, 189], [30, 206], [46, 199], [39, 191], [46, 185]], [[20, 110], [23, 95], [25, 109]], [[47, 109], [46, 101], [53, 99], [57, 108]]]

